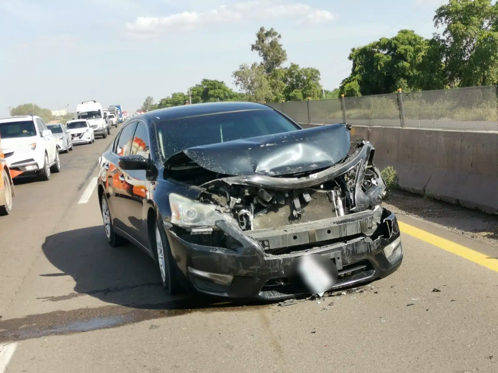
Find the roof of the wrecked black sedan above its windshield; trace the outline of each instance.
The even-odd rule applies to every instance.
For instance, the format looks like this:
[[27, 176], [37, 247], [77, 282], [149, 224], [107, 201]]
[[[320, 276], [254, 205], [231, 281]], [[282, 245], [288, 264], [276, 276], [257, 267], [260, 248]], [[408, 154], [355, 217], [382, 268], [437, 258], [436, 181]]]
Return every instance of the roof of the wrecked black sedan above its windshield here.
[[245, 101], [224, 101], [224, 102], [207, 102], [195, 103], [192, 105], [172, 106], [164, 109], [147, 111], [143, 114], [137, 114], [135, 119], [153, 119], [160, 117], [161, 119], [184, 118], [195, 115], [206, 115], [215, 113], [225, 113], [231, 111], [243, 110], [273, 110], [272, 107], [256, 102]]

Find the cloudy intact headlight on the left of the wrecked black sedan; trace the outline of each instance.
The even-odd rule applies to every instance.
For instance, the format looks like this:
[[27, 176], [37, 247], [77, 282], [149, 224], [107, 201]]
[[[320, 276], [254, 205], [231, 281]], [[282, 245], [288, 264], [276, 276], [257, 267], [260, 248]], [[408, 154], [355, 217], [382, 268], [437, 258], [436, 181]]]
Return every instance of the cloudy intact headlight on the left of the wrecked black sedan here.
[[[228, 220], [231, 217], [218, 211], [215, 205], [205, 204], [171, 193], [171, 223], [184, 227], [215, 227], [217, 220]], [[235, 220], [234, 220], [235, 221]]]

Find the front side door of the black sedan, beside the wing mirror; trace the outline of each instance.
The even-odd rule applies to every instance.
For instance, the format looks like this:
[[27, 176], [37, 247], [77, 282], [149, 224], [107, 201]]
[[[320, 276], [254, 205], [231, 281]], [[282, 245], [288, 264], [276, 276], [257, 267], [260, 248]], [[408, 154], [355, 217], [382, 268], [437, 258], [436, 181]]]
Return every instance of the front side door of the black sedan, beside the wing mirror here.
[[[150, 139], [147, 125], [138, 121], [133, 134], [130, 155], [141, 155], [150, 159]], [[126, 203], [123, 204], [122, 214], [129, 234], [145, 248], [149, 246], [147, 231], [148, 190], [153, 181], [147, 180], [145, 170], [119, 170], [126, 185]]]

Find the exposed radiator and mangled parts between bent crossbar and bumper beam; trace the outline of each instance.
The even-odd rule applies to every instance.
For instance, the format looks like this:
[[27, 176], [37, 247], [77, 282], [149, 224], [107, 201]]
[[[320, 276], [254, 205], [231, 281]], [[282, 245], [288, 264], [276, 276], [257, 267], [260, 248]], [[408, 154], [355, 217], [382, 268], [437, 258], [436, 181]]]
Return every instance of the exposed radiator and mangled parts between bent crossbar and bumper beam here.
[[[362, 149], [366, 152], [361, 152]], [[231, 182], [233, 178], [218, 179], [201, 186], [206, 187], [206, 191], [200, 200], [223, 207], [244, 231], [283, 228], [363, 211], [380, 203], [385, 184], [371, 162], [373, 148], [369, 143], [360, 144], [357, 152], [341, 164], [348, 165], [360, 153], [368, 153], [367, 160], [351, 165], [341, 175], [333, 173], [330, 180], [317, 185], [289, 190], [288, 185], [253, 187], [246, 185], [251, 184], [249, 181], [236, 184]], [[308, 173], [294, 178], [304, 181], [312, 179], [313, 175]]]

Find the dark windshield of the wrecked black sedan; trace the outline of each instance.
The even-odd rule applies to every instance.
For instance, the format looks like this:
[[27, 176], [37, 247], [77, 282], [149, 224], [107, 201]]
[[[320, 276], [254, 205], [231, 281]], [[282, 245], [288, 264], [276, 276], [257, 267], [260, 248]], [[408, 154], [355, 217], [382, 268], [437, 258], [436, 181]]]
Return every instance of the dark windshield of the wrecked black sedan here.
[[194, 146], [296, 131], [299, 128], [274, 110], [192, 116], [157, 122], [157, 136], [164, 159]]

